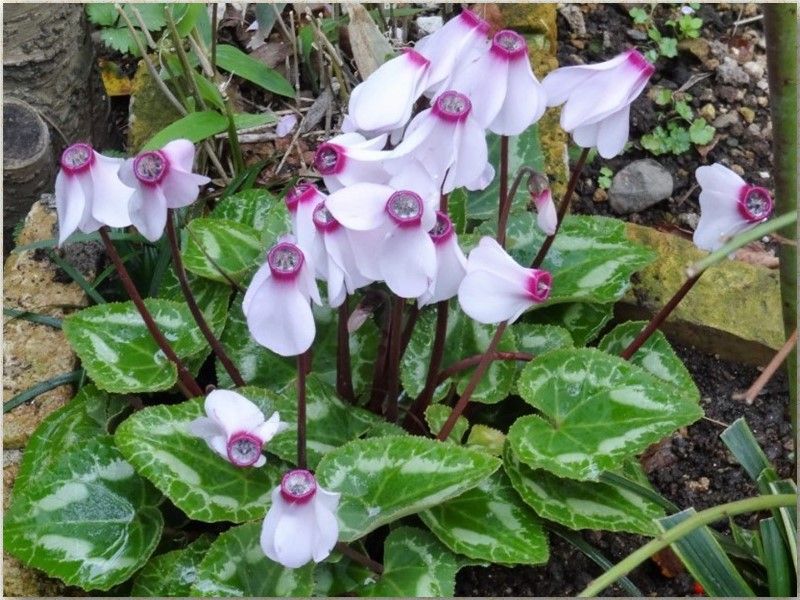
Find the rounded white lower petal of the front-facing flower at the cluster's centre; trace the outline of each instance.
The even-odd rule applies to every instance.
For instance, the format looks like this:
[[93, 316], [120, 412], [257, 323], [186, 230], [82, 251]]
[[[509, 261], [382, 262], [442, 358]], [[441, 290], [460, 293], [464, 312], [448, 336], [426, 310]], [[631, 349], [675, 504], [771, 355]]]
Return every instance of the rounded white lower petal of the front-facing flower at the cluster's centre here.
[[396, 227], [383, 242], [379, 264], [390, 290], [401, 298], [416, 298], [436, 277], [436, 249], [421, 227]]

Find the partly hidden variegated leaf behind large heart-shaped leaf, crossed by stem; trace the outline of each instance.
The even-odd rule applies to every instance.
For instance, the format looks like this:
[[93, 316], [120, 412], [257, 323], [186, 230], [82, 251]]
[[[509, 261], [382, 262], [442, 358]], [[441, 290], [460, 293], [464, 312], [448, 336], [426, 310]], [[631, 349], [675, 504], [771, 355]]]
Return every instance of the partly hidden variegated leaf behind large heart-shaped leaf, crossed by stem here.
[[[603, 336], [597, 347], [609, 354], [618, 355], [636, 339], [646, 325], [645, 321], [629, 321], [617, 325]], [[660, 331], [650, 336], [630, 358], [630, 362], [682, 390], [700, 395], [689, 371]]]

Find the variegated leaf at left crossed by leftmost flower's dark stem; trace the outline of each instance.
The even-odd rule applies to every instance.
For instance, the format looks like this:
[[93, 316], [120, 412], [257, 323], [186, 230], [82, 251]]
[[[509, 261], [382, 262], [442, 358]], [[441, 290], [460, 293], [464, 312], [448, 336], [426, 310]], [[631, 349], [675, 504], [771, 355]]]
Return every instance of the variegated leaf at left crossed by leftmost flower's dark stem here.
[[[145, 300], [161, 332], [180, 358], [206, 350], [207, 342], [184, 303]], [[175, 365], [167, 360], [132, 302], [84, 308], [64, 319], [64, 333], [97, 387], [109, 392], [153, 392], [172, 387]]]

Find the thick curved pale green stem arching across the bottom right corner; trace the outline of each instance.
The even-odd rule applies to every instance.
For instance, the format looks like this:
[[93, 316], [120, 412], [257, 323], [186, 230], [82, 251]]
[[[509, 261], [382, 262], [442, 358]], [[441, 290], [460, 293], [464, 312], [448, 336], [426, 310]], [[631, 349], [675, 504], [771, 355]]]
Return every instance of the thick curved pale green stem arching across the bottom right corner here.
[[682, 523], [659, 534], [653, 540], [628, 555], [627, 558], [618, 562], [613, 568], [590, 583], [586, 589], [578, 594], [578, 597], [586, 598], [596, 596], [617, 579], [630, 573], [653, 554], [663, 550], [698, 527], [708, 525], [709, 523], [724, 519], [725, 517], [733, 517], [743, 513], [757, 512], [770, 508], [779, 508], [781, 506], [795, 506], [796, 503], [797, 494], [776, 494], [737, 500], [736, 502], [721, 504], [695, 513]]

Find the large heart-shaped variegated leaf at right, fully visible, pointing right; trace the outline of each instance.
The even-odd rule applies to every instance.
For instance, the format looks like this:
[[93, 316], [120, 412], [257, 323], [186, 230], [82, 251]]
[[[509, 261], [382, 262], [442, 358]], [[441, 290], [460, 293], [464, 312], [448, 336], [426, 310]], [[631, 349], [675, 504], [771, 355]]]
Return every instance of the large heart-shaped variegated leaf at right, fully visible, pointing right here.
[[603, 471], [701, 416], [696, 390], [591, 348], [555, 350], [529, 363], [517, 383], [542, 415], [520, 417], [508, 442], [525, 464], [571, 479]]

